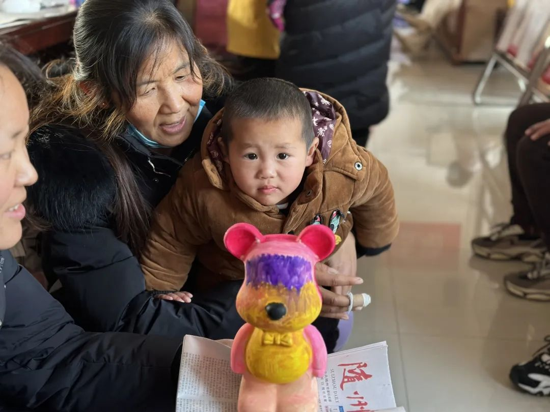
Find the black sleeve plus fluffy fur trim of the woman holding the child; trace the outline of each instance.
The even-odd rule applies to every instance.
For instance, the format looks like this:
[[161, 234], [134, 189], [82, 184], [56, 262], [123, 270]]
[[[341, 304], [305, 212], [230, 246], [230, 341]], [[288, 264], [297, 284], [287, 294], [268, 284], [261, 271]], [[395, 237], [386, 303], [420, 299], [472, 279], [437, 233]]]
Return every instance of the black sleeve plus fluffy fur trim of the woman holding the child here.
[[45, 274], [62, 285], [59, 300], [85, 330], [183, 338], [233, 338], [243, 324], [235, 309], [239, 282], [195, 295], [193, 303], [154, 299], [128, 245], [111, 229], [116, 196], [105, 156], [78, 130], [46, 126], [33, 133], [29, 153], [39, 180], [30, 209], [48, 222], [42, 234]]

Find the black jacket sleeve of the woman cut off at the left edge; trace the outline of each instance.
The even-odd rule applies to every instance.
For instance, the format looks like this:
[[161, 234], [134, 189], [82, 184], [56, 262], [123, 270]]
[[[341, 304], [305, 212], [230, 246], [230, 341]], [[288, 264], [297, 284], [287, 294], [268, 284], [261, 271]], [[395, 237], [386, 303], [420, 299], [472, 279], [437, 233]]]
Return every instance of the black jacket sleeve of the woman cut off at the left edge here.
[[0, 409], [174, 410], [180, 339], [84, 332], [8, 252], [2, 257]]

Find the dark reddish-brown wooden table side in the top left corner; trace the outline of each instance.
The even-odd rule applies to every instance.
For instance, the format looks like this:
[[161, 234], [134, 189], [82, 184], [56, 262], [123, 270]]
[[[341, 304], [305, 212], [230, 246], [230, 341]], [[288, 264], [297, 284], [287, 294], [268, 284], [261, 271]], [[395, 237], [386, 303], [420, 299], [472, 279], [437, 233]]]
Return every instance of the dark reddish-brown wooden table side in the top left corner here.
[[0, 29], [0, 37], [7, 39], [23, 54], [35, 54], [71, 40], [75, 18], [76, 10], [73, 10], [56, 17]]

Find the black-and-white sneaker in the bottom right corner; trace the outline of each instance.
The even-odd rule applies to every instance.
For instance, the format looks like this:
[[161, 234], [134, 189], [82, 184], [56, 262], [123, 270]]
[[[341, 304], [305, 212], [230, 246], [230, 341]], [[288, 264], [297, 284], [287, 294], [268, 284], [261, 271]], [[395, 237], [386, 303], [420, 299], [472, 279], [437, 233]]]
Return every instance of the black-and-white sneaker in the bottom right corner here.
[[547, 342], [525, 363], [514, 365], [510, 371], [510, 380], [521, 391], [536, 396], [550, 396], [550, 335]]

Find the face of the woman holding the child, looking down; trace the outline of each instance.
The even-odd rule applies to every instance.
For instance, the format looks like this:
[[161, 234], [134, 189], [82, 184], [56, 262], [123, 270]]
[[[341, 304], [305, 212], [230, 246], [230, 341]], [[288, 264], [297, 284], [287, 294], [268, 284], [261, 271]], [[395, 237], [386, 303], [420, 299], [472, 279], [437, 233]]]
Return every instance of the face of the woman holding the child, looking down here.
[[[191, 133], [202, 97], [202, 81], [191, 77], [188, 55], [177, 42], [167, 43], [164, 49], [166, 53], [152, 73], [153, 59], [140, 69], [136, 103], [126, 117], [150, 140], [175, 147]], [[199, 74], [196, 67], [195, 73]]]

